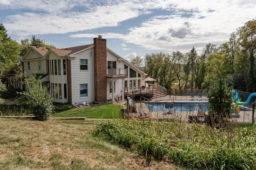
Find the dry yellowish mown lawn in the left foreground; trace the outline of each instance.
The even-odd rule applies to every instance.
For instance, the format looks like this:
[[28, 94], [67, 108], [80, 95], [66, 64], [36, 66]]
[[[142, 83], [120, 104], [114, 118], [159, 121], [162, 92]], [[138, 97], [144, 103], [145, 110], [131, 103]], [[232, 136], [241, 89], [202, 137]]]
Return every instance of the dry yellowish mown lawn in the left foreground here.
[[100, 121], [0, 119], [0, 169], [177, 170], [94, 136]]

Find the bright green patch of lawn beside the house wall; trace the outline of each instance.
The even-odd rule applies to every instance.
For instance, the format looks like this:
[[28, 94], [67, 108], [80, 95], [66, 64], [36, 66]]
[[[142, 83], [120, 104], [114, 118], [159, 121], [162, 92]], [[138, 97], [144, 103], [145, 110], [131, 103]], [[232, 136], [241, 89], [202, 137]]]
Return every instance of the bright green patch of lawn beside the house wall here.
[[116, 104], [71, 109], [54, 113], [50, 117], [86, 117], [87, 119], [118, 119], [123, 118], [123, 107]]

